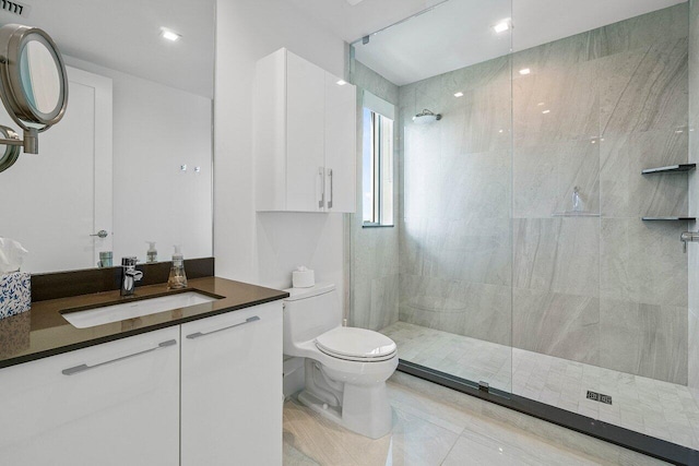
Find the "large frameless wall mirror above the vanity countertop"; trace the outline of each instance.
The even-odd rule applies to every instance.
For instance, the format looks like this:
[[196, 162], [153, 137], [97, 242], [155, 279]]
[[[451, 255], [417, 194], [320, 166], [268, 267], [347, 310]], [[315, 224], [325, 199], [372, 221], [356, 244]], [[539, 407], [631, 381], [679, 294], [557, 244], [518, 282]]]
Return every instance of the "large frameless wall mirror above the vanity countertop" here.
[[215, 0], [19, 4], [0, 25], [46, 31], [69, 79], [60, 124], [0, 172], [0, 237], [29, 251], [22, 271], [95, 267], [106, 251], [145, 262], [146, 241], [159, 261], [174, 244], [211, 256]]

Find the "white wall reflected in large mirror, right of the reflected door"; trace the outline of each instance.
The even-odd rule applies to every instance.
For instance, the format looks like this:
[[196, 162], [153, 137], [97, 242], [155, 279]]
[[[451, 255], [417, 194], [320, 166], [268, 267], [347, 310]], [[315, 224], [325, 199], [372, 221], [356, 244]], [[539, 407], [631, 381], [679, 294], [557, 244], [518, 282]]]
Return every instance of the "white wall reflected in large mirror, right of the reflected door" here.
[[[67, 57], [114, 83], [114, 256], [212, 255], [211, 99]], [[186, 164], [187, 171], [180, 171]], [[200, 171], [194, 172], [194, 167]]]

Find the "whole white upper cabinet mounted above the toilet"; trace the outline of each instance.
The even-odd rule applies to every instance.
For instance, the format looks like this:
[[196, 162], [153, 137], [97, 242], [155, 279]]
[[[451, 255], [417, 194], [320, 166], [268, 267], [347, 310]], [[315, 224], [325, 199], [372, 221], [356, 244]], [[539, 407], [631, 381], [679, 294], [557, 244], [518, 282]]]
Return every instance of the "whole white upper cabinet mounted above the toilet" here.
[[257, 64], [257, 210], [355, 212], [356, 88], [280, 49]]

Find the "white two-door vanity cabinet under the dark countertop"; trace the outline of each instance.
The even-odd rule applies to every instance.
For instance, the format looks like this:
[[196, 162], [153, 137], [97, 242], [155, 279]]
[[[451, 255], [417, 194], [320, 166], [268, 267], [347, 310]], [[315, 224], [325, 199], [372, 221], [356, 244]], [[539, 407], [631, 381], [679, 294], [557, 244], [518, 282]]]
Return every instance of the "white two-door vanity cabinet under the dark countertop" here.
[[0, 369], [0, 465], [282, 464], [282, 301]]

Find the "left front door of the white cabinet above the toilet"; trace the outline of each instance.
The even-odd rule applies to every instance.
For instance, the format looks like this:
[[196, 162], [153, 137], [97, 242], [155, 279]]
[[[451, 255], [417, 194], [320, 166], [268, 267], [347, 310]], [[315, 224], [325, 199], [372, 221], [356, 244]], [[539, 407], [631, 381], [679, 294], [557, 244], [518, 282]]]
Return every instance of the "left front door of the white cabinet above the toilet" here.
[[286, 210], [319, 212], [323, 202], [325, 72], [287, 52]]

